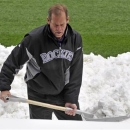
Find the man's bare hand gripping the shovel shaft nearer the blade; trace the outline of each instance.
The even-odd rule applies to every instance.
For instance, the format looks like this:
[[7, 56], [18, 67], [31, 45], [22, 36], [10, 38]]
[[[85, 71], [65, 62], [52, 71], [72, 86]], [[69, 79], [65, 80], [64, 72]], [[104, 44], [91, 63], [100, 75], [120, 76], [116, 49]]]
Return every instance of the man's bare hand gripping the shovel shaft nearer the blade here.
[[75, 116], [75, 111], [76, 111], [76, 109], [77, 109], [76, 104], [66, 103], [66, 104], [65, 104], [65, 107], [72, 108], [72, 110], [67, 110], [67, 111], [65, 111], [65, 114], [71, 115], [71, 116], [72, 116], [72, 115]]

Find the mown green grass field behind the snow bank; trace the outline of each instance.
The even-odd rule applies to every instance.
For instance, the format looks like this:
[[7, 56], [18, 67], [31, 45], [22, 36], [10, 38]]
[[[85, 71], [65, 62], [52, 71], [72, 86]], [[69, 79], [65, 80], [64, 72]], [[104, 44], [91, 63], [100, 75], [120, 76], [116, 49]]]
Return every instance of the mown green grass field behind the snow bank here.
[[130, 0], [0, 0], [0, 43], [18, 44], [25, 33], [46, 23], [55, 3], [68, 7], [85, 54], [108, 57], [130, 51]]

